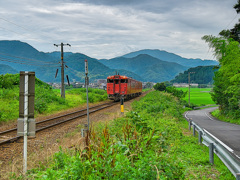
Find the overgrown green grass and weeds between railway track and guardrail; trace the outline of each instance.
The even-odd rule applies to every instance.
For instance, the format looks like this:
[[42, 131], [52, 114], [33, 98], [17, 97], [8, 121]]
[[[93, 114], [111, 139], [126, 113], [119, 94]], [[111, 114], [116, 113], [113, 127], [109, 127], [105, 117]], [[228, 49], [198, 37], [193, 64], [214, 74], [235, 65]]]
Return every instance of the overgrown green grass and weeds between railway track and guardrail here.
[[[62, 149], [49, 164], [28, 171], [28, 179], [234, 179], [208, 149], [198, 145], [170, 94], [150, 92], [126, 116], [100, 122], [85, 148]], [[26, 178], [26, 177], [24, 177]], [[23, 179], [12, 175], [12, 179]]]

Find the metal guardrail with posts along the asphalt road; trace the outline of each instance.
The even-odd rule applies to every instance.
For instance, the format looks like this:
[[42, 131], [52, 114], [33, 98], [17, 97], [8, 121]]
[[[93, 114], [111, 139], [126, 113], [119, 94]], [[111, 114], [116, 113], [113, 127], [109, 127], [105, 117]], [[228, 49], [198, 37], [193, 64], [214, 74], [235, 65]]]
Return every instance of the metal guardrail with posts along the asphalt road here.
[[[188, 113], [188, 112], [187, 112]], [[222, 160], [222, 162], [227, 166], [227, 168], [232, 172], [237, 180], [240, 180], [240, 157], [234, 154], [234, 151], [225, 145], [218, 138], [213, 136], [206, 129], [201, 128], [195, 122], [187, 117], [185, 118], [189, 123], [189, 130], [193, 128], [193, 135], [198, 132], [198, 142], [203, 143], [209, 148], [209, 161], [214, 164], [214, 153]]]

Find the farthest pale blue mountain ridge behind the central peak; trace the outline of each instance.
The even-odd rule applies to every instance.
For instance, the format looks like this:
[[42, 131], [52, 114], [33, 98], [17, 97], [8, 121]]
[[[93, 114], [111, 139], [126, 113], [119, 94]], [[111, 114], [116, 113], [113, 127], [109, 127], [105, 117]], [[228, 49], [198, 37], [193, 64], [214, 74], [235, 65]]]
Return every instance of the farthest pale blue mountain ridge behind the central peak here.
[[136, 51], [136, 52], [131, 52], [129, 54], [123, 55], [122, 57], [133, 58], [140, 54], [148, 54], [152, 57], [161, 59], [163, 61], [175, 62], [182, 66], [186, 66], [186, 67], [218, 65], [218, 61], [201, 60], [201, 59], [187, 59], [187, 58], [183, 58], [179, 55], [176, 55], [174, 53], [169, 53], [167, 51], [161, 51], [158, 49], [155, 49], [155, 50], [144, 49], [144, 50], [140, 50], [140, 51]]

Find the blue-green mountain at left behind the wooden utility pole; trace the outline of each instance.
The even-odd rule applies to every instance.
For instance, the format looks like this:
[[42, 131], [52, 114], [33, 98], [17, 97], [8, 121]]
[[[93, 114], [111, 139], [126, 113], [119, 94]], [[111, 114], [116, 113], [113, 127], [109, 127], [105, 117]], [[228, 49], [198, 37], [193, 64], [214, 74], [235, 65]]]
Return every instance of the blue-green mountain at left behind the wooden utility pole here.
[[[35, 71], [36, 77], [45, 82], [60, 82], [60, 52], [39, 52], [32, 46], [21, 41], [0, 41], [0, 61], [19, 71]], [[143, 79], [133, 72], [119, 68], [110, 69], [101, 64], [97, 59], [90, 58], [80, 53], [64, 53], [64, 62], [67, 67], [65, 74], [70, 81], [84, 81], [84, 61], [88, 60], [89, 79], [106, 79], [117, 72], [142, 81]], [[59, 69], [55, 79], [56, 69]]]

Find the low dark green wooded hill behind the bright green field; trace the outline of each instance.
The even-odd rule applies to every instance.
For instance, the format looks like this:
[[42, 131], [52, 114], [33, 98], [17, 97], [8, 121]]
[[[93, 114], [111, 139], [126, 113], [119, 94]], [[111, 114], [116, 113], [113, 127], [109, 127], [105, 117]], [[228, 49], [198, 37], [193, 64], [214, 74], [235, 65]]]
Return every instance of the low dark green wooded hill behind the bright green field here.
[[217, 71], [216, 66], [198, 66], [190, 68], [184, 73], [180, 73], [173, 79], [172, 83], [188, 83], [188, 72], [191, 73], [191, 83], [212, 84], [214, 72]]

